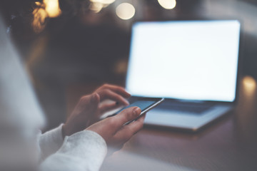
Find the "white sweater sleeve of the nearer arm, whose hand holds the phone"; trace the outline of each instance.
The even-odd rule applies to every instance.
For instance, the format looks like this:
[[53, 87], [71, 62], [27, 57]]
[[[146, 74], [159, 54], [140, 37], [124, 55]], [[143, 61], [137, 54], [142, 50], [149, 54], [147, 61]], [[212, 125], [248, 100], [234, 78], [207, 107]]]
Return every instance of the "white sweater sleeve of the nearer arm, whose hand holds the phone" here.
[[106, 156], [106, 142], [97, 133], [84, 130], [67, 136], [61, 148], [41, 163], [41, 171], [95, 171]]

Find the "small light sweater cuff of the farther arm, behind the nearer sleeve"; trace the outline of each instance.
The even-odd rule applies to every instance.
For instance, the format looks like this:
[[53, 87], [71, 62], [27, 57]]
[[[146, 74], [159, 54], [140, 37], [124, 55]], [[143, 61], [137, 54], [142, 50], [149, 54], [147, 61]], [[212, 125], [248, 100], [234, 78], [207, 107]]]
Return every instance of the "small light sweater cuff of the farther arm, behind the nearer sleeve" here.
[[48, 132], [39, 135], [39, 149], [40, 149], [40, 158], [41, 161], [44, 160], [51, 154], [54, 154], [64, 142], [64, 138], [62, 137], [62, 126], [54, 128], [54, 130], [49, 130]]

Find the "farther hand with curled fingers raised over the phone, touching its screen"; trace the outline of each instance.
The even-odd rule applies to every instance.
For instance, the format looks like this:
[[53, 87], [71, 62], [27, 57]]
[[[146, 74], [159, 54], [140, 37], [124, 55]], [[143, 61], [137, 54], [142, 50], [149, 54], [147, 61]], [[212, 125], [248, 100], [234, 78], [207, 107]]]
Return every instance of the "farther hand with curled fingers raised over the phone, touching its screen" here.
[[[131, 95], [120, 86], [105, 84], [91, 95], [84, 95], [74, 108], [70, 117], [63, 126], [63, 136], [72, 135], [88, 128], [99, 121], [99, 117], [109, 110], [119, 108], [121, 105], [129, 105], [126, 98]], [[104, 100], [113, 100], [114, 103], [101, 104]]]

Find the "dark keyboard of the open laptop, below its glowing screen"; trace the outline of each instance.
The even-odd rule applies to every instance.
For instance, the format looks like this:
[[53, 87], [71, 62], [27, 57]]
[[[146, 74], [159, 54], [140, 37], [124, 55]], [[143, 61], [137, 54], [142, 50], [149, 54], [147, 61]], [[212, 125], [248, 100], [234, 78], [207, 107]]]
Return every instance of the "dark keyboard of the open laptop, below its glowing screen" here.
[[164, 101], [163, 103], [161, 103], [161, 105], [158, 106], [158, 108], [162, 109], [176, 110], [192, 114], [201, 114], [212, 107], [213, 105], [206, 103], [181, 103], [174, 101]]

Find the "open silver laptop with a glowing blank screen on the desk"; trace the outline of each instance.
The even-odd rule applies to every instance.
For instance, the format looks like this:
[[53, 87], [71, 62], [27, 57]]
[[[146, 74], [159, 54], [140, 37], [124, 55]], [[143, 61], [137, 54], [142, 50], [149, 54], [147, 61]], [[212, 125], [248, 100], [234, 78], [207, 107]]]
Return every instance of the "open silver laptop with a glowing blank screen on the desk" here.
[[126, 90], [165, 98], [146, 125], [197, 131], [234, 108], [240, 27], [237, 20], [133, 24]]

